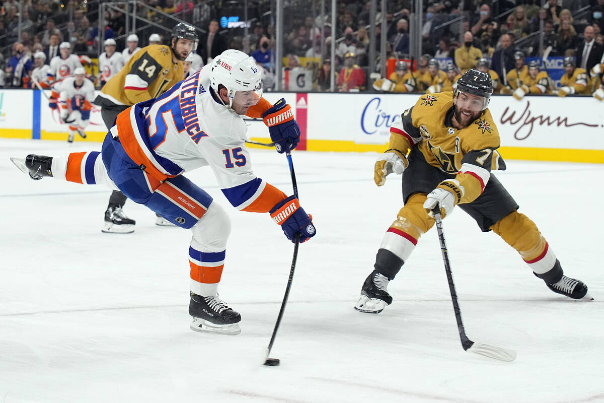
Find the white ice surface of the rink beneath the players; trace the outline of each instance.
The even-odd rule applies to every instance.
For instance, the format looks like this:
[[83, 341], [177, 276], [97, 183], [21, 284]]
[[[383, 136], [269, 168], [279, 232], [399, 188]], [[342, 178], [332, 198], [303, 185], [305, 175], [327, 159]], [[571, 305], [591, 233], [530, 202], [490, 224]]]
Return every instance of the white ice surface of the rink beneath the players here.
[[[463, 211], [443, 222], [467, 335], [516, 350], [504, 363], [461, 349], [434, 229], [391, 282], [393, 305], [353, 310], [400, 181], [374, 185], [374, 153], [294, 152], [317, 235], [300, 246], [271, 354], [281, 366], [265, 367], [293, 250], [280, 228], [230, 207], [209, 169], [187, 174], [230, 212], [220, 297], [243, 318], [238, 336], [193, 332], [189, 231], [129, 201], [135, 233], [103, 234], [109, 190], [32, 181], [8, 160], [90, 149], [0, 139], [1, 402], [604, 401], [604, 165], [507, 161], [497, 174], [593, 302], [553, 294]], [[291, 193], [285, 156], [251, 152], [257, 175]]]

